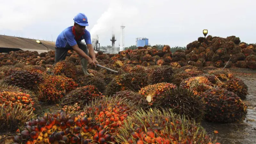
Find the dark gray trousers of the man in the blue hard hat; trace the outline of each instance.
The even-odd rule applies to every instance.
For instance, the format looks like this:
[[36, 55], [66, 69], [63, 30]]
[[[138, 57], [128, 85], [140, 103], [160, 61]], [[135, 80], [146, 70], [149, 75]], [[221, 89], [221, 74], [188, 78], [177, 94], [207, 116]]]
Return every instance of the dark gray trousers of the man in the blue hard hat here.
[[[81, 50], [83, 50], [88, 55], [88, 48], [87, 48], [86, 44], [84, 44], [83, 42], [80, 42], [77, 45]], [[54, 64], [59, 62], [59, 61], [65, 60], [65, 58], [67, 56], [67, 53], [68, 53], [68, 50], [72, 50], [72, 47], [70, 47], [70, 48], [57, 48], [56, 47], [55, 48]], [[83, 59], [83, 57], [80, 56], [80, 59]]]

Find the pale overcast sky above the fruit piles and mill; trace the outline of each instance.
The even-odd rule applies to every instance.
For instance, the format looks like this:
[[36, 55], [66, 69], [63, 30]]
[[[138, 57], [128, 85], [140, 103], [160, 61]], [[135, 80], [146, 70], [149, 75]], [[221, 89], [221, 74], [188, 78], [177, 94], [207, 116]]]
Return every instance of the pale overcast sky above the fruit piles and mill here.
[[256, 43], [254, 0], [0, 0], [0, 35], [56, 41], [59, 33], [74, 24], [78, 12], [88, 17], [86, 27], [99, 35], [101, 46], [111, 45], [112, 31], [124, 46], [136, 37], [147, 37], [151, 45], [186, 46], [203, 36], [238, 36]]

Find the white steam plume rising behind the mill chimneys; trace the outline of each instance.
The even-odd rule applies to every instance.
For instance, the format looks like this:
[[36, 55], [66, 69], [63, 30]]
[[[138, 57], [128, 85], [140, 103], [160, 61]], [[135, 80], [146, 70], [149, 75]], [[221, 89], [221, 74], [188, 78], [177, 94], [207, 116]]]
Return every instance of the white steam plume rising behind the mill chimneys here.
[[[115, 34], [115, 39], [120, 41], [121, 25], [126, 25], [128, 22], [132, 22], [132, 18], [138, 13], [136, 7], [127, 6], [120, 0], [111, 0], [109, 7], [101, 17], [97, 20], [97, 24], [90, 30], [91, 38], [97, 39], [97, 35], [100, 39], [112, 37], [112, 33]], [[118, 42], [115, 42], [115, 47], [118, 47]], [[109, 41], [111, 44], [111, 41]], [[110, 53], [110, 52], [108, 52]], [[117, 50], [111, 53], [118, 53]]]

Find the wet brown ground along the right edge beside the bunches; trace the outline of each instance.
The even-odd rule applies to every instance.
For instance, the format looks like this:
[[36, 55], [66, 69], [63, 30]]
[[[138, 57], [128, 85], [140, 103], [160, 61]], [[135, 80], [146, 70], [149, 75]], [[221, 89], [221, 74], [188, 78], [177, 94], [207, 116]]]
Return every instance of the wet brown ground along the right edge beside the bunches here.
[[[208, 134], [221, 144], [256, 144], [256, 70], [230, 69], [248, 86], [249, 95], [244, 102], [248, 112], [239, 124], [216, 124], [202, 122]], [[219, 133], [214, 134], [214, 131]]]

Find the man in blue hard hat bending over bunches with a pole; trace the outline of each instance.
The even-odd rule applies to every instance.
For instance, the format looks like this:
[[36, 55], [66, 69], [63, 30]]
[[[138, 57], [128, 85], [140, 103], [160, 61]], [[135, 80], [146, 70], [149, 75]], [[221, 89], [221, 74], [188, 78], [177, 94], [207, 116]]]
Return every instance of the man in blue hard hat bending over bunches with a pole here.
[[[60, 33], [56, 40], [54, 64], [65, 60], [68, 50], [73, 49], [80, 55], [84, 75], [91, 76], [87, 71], [87, 65], [96, 66], [99, 62], [95, 58], [91, 34], [85, 29], [86, 26], [89, 26], [87, 17], [84, 13], [78, 13], [74, 18], [74, 26], [70, 26]], [[82, 42], [83, 39], [86, 45]], [[92, 58], [88, 56], [88, 50]]]

